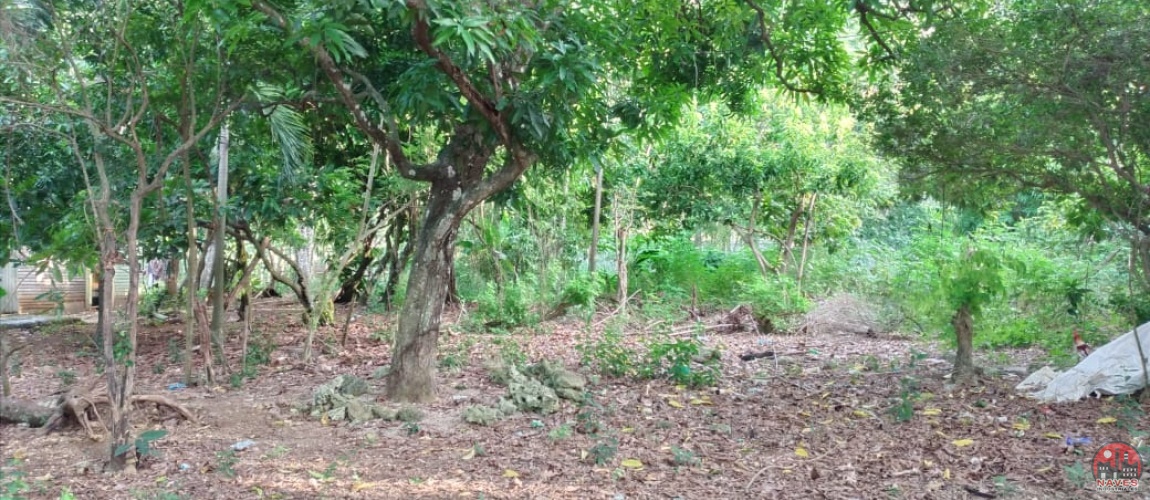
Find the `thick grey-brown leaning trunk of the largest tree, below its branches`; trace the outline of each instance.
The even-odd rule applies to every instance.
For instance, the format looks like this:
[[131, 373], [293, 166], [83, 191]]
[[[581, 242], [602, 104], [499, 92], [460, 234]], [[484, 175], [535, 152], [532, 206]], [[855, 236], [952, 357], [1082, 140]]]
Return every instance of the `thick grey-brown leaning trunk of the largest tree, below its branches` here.
[[435, 367], [439, 322], [454, 264], [455, 234], [466, 215], [452, 199], [459, 191], [432, 184], [423, 224], [416, 234], [407, 278], [407, 298], [399, 315], [388, 395], [399, 401], [435, 399]]

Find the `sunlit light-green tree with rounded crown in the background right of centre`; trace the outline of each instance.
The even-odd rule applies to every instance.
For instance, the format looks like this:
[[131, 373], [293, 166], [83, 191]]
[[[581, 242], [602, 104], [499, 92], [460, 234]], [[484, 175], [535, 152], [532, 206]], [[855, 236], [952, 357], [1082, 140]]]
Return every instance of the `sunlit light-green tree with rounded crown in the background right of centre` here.
[[[643, 199], [665, 229], [728, 225], [764, 276], [800, 282], [808, 245], [857, 226], [862, 210], [891, 194], [879, 187], [894, 175], [845, 107], [769, 94], [752, 102], [757, 110], [742, 115], [716, 102], [695, 107], [662, 138], [651, 161], [658, 167], [644, 169]], [[779, 254], [764, 255], [760, 239]]]

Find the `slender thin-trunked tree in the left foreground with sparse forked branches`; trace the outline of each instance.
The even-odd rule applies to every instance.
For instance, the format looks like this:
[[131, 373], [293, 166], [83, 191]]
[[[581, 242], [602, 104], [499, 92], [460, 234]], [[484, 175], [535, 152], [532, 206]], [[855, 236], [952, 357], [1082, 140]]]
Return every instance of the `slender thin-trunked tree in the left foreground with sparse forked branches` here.
[[[2, 54], [8, 76], [20, 82], [0, 94], [0, 105], [17, 109], [13, 116], [34, 110], [43, 122], [22, 125], [62, 141], [74, 160], [71, 168], [83, 178], [84, 190], [75, 208], [87, 211], [99, 248], [100, 309], [107, 391], [112, 415], [109, 467], [126, 467], [132, 456], [129, 414], [136, 375], [136, 337], [139, 308], [140, 255], [138, 236], [145, 200], [162, 186], [168, 170], [192, 149], [224, 116], [238, 107], [223, 85], [195, 92], [198, 109], [164, 106], [162, 95], [170, 82], [164, 75], [179, 74], [178, 61], [164, 48], [182, 23], [195, 23], [168, 5], [100, 3], [53, 5], [43, 14], [51, 29], [2, 30]], [[6, 11], [0, 10], [0, 15]], [[172, 21], [175, 20], [175, 21]], [[7, 21], [0, 26], [8, 26]], [[179, 37], [176, 37], [179, 38]], [[182, 39], [182, 38], [179, 38]], [[185, 43], [195, 43], [190, 39]], [[218, 54], [217, 54], [218, 55]], [[223, 57], [212, 61], [223, 67]], [[171, 66], [169, 66], [171, 64]], [[159, 123], [176, 123], [171, 111], [197, 113], [191, 133], [172, 141], [164, 139]], [[193, 115], [194, 116], [194, 115]], [[170, 132], [170, 130], [169, 130]], [[10, 178], [10, 177], [9, 177]], [[124, 210], [126, 207], [126, 210]], [[126, 325], [115, 325], [112, 306], [116, 264], [129, 268]], [[128, 452], [125, 453], [124, 449]]]

